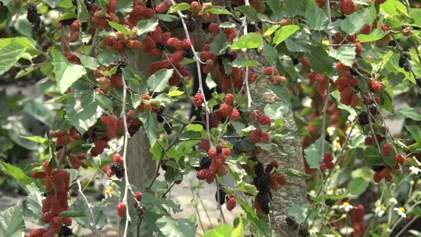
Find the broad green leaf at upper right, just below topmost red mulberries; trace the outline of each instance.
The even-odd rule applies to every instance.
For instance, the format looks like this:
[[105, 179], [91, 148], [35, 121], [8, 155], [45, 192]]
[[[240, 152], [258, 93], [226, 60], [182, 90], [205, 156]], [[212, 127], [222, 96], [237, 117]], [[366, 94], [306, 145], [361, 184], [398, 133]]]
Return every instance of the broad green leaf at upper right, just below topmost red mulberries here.
[[364, 25], [371, 25], [373, 20], [370, 12], [371, 7], [361, 9], [350, 16], [346, 17], [341, 23], [340, 28], [346, 34], [356, 34]]

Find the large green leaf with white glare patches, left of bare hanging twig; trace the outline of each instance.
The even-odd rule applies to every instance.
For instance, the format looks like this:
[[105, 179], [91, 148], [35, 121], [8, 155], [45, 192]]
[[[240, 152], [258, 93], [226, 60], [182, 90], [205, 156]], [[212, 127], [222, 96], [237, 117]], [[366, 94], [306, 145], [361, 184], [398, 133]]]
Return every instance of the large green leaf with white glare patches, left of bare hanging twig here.
[[81, 134], [92, 127], [105, 111], [93, 91], [75, 91], [66, 102], [67, 119]]

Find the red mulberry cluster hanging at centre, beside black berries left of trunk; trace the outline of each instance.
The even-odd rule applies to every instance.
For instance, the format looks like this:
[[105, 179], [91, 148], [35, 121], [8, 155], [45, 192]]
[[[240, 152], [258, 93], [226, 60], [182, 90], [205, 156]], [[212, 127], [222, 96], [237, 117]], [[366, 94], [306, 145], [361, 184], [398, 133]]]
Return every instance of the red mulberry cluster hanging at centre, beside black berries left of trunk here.
[[231, 154], [231, 151], [229, 148], [222, 148], [222, 144], [219, 144], [217, 147], [219, 147], [219, 149], [210, 148], [208, 150], [210, 165], [209, 161], [207, 160], [208, 158], [205, 158], [205, 160], [202, 158], [204, 167], [209, 165], [209, 168], [200, 169], [196, 175], [199, 180], [206, 180], [208, 184], [213, 182], [216, 177], [216, 173], [222, 176], [228, 173], [228, 169], [225, 167], [225, 161], [227, 160], [227, 156]]

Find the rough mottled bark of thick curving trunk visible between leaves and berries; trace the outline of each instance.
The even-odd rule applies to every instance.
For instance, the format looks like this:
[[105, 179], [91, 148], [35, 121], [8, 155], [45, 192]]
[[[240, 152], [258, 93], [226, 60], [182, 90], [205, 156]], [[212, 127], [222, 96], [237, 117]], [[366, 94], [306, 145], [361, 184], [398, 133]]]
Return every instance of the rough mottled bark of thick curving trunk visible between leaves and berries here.
[[[230, 0], [214, 0], [211, 2], [214, 5], [225, 6], [228, 10], [231, 9]], [[190, 36], [194, 40], [194, 47], [196, 51], [202, 51], [205, 44], [210, 44], [212, 42], [214, 35], [210, 33], [207, 27], [203, 27], [204, 29], [202, 29], [203, 21], [201, 18], [196, 17], [196, 21], [197, 29], [191, 33]], [[173, 28], [170, 27], [170, 29]], [[173, 30], [172, 35], [177, 36], [180, 39], [185, 38], [184, 31], [180, 29]], [[257, 50], [249, 50], [248, 54], [252, 60], [255, 60], [259, 63], [259, 68], [270, 66], [264, 55], [259, 54]], [[212, 72], [212, 79], [218, 85], [221, 85], [222, 81], [224, 80], [223, 76], [219, 73], [217, 68]], [[256, 89], [251, 91], [251, 97], [252, 100], [262, 103], [262, 107], [259, 108], [260, 110], [263, 110], [266, 104], [273, 104], [280, 101], [279, 98], [272, 92], [272, 90], [266, 86], [266, 80], [259, 81]], [[291, 109], [288, 115], [284, 117], [284, 128], [297, 128]], [[281, 173], [290, 168], [305, 172], [303, 151], [299, 137], [293, 139], [284, 139], [282, 141], [278, 141], [277, 144], [282, 146], [288, 154], [282, 156], [275, 150], [262, 152], [257, 157], [259, 161], [266, 165], [271, 161], [276, 160], [279, 164], [278, 170]], [[271, 213], [270, 217], [272, 227], [275, 229], [278, 237], [295, 236], [296, 231], [288, 226], [285, 221], [287, 217], [287, 209], [290, 206], [306, 203], [307, 201], [305, 180], [295, 177], [287, 177], [287, 180], [287, 185], [282, 186], [282, 188], [275, 191], [273, 193], [272, 199], [274, 215]]]

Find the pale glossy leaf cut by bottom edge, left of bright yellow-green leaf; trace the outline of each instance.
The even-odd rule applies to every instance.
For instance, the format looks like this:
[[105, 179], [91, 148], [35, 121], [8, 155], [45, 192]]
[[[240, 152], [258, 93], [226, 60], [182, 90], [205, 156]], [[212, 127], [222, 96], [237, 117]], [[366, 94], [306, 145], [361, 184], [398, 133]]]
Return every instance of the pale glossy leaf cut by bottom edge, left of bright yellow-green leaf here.
[[194, 226], [194, 223], [188, 219], [162, 217], [156, 221], [156, 225], [165, 236], [194, 237], [196, 235], [196, 227]]

